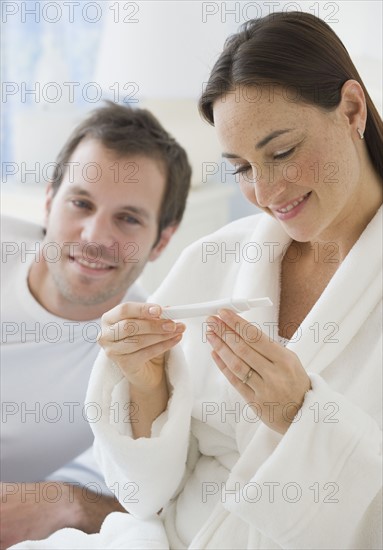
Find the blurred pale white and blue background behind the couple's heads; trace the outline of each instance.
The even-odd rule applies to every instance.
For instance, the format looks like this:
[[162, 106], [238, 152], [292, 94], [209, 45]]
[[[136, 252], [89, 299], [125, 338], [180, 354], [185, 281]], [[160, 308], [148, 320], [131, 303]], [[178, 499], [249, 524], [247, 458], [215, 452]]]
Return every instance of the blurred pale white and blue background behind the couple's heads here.
[[150, 108], [187, 149], [193, 166], [193, 190], [174, 244], [143, 276], [153, 290], [184, 246], [255, 212], [221, 160], [197, 101], [229, 34], [250, 18], [293, 10], [312, 13], [334, 29], [381, 112], [380, 0], [3, 0], [2, 213], [42, 221], [58, 151], [103, 100]]

